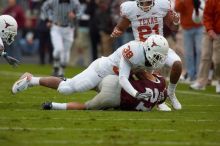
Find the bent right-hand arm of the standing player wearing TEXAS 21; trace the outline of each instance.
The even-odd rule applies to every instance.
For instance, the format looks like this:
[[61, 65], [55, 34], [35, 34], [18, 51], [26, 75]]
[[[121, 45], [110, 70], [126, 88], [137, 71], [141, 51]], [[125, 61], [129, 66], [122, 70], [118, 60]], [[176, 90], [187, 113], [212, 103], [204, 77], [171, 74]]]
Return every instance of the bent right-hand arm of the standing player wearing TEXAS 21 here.
[[179, 29], [180, 16], [173, 10], [169, 10], [167, 15], [163, 18], [164, 24], [167, 25], [170, 30], [177, 32]]

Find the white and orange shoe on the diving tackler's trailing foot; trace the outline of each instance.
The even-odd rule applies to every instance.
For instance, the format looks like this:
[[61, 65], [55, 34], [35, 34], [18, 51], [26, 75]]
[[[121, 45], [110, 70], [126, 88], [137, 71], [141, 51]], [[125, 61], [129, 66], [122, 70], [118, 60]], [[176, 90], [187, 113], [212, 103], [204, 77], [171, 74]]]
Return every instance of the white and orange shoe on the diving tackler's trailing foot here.
[[12, 86], [12, 93], [16, 94], [17, 92], [26, 90], [29, 87], [32, 76], [28, 72], [24, 73]]

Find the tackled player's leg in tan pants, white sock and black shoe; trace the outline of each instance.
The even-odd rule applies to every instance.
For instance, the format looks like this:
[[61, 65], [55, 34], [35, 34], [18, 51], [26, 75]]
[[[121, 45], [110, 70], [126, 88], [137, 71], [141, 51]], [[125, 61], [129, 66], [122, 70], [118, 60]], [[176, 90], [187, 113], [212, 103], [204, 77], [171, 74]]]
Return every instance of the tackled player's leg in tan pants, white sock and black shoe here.
[[117, 76], [106, 76], [102, 82], [99, 83], [99, 89], [100, 93], [85, 104], [79, 102], [45, 102], [42, 104], [42, 108], [44, 110], [100, 110], [114, 108], [120, 105], [121, 87]]

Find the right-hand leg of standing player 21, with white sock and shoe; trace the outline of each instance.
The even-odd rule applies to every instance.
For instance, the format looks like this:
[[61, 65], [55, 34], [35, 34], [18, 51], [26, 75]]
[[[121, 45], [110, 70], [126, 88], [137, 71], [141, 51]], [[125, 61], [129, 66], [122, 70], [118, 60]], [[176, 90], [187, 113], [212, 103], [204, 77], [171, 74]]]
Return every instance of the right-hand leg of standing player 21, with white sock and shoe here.
[[180, 57], [172, 49], [169, 49], [168, 51], [166, 65], [168, 65], [171, 68], [170, 82], [168, 84], [168, 90], [167, 90], [168, 96], [173, 108], [176, 110], [180, 110], [182, 109], [182, 106], [178, 101], [178, 99], [176, 98], [175, 91], [179, 78], [182, 73], [182, 62]]

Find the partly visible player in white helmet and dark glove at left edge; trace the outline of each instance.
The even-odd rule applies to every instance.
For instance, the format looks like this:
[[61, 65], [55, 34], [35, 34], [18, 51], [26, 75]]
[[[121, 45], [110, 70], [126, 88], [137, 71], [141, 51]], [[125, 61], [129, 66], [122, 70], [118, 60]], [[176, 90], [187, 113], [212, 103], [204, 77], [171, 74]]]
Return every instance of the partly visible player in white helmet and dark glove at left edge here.
[[10, 15], [0, 16], [0, 56], [3, 56], [5, 60], [13, 66], [18, 65], [19, 61], [11, 56], [8, 56], [4, 52], [4, 43], [10, 45], [14, 41], [14, 37], [17, 35], [17, 22]]

